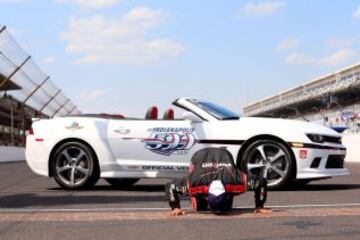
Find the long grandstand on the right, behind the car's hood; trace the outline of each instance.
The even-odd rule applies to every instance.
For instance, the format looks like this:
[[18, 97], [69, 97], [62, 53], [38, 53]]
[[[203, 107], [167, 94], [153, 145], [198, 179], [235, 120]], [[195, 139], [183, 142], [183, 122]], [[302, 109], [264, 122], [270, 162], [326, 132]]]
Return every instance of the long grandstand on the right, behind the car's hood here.
[[360, 132], [360, 63], [247, 104], [245, 116], [302, 119]]

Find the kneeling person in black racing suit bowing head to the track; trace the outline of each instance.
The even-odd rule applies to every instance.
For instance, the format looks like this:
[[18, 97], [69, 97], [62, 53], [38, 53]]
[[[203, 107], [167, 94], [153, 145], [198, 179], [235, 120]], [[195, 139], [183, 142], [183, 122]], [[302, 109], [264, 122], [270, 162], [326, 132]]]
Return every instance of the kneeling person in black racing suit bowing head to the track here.
[[172, 209], [171, 215], [183, 215], [180, 195], [190, 196], [195, 211], [212, 210], [222, 213], [231, 210], [233, 197], [255, 190], [257, 213], [267, 213], [264, 208], [267, 197], [267, 181], [262, 169], [247, 179], [233, 161], [232, 155], [222, 148], [205, 148], [196, 152], [189, 168], [189, 175], [166, 184], [166, 197]]

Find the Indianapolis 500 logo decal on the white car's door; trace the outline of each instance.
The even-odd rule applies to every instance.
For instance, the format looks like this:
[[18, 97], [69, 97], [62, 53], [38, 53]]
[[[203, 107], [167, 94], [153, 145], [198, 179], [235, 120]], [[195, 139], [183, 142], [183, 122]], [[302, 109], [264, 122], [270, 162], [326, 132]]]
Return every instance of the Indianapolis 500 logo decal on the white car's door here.
[[[197, 143], [194, 128], [149, 128], [150, 136], [139, 139], [150, 151], [170, 156], [184, 155]], [[134, 139], [134, 138], [123, 138]]]

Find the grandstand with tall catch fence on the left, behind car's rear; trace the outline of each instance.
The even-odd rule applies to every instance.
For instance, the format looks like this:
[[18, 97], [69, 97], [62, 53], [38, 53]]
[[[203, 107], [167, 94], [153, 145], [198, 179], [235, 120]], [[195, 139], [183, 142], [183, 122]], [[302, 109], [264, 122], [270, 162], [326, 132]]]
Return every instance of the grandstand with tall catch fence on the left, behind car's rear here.
[[5, 146], [24, 147], [32, 118], [79, 113], [6, 27], [0, 25], [0, 157], [6, 155]]

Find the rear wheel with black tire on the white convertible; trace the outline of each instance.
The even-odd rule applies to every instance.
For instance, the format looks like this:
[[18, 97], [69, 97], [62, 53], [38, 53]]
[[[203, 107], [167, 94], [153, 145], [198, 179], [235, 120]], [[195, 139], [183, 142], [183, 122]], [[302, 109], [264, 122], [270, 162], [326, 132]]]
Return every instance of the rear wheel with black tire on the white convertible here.
[[72, 141], [60, 145], [51, 159], [50, 168], [55, 181], [66, 189], [92, 187], [100, 177], [95, 154], [91, 148], [80, 142]]

